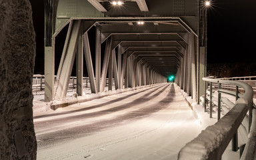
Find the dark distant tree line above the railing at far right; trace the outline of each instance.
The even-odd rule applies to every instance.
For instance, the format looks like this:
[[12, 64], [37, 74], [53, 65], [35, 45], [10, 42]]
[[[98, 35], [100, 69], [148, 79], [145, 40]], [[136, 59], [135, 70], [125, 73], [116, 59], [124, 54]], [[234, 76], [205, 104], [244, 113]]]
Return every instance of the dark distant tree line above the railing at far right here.
[[256, 63], [208, 63], [207, 76], [221, 78], [256, 76]]

